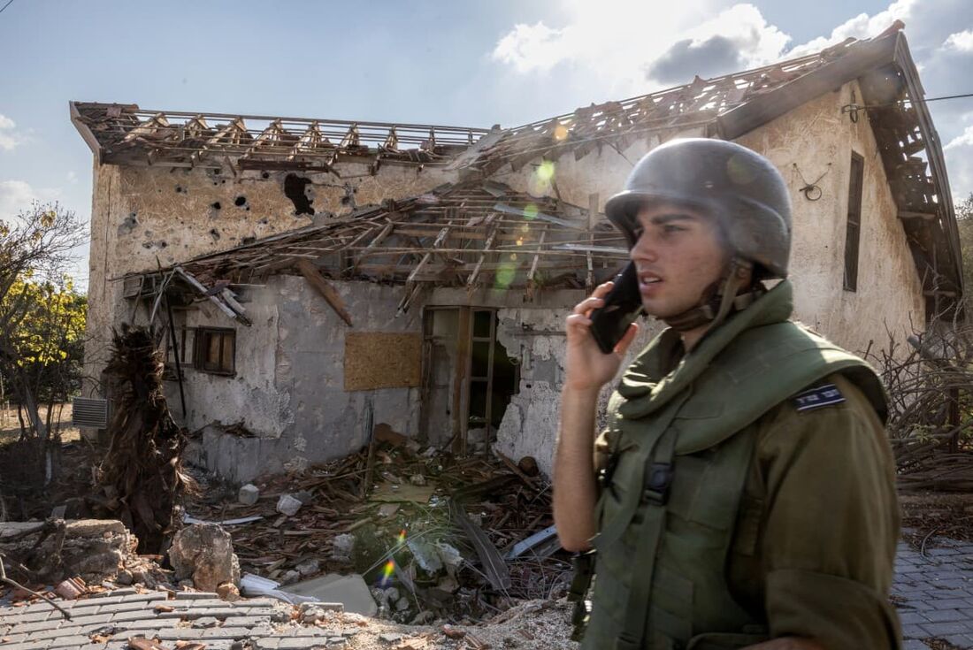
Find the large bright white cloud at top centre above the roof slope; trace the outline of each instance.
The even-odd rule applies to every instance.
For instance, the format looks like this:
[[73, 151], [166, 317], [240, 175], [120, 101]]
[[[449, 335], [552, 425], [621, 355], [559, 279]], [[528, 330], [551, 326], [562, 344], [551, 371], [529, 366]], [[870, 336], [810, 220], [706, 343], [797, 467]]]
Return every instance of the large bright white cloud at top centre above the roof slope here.
[[[719, 7], [711, 5], [723, 5]], [[592, 100], [657, 90], [762, 65], [790, 38], [750, 4], [562, 0], [561, 25], [517, 24], [491, 54], [520, 75], [584, 86]], [[653, 67], [654, 63], [662, 61]], [[701, 67], [702, 66], [702, 67]], [[676, 81], [677, 79], [677, 81]]]

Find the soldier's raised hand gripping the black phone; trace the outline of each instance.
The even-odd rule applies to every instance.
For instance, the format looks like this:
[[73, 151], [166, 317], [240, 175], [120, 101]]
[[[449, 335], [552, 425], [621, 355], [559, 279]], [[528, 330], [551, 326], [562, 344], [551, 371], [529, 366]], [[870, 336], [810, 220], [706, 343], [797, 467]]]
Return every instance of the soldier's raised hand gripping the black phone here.
[[629, 349], [638, 326], [632, 323], [629, 331], [615, 345], [611, 354], [605, 354], [592, 336], [592, 311], [604, 305], [604, 296], [613, 283], [605, 282], [595, 287], [591, 296], [578, 303], [564, 321], [567, 333], [567, 355], [564, 360], [565, 387], [572, 390], [597, 391], [611, 381], [622, 365], [622, 358]]

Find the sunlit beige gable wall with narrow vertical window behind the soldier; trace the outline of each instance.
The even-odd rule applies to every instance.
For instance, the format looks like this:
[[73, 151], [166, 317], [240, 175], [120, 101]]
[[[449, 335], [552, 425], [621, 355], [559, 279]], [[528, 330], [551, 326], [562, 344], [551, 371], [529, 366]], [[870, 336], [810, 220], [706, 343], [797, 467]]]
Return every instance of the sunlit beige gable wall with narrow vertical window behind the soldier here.
[[[829, 92], [739, 138], [775, 163], [794, 206], [795, 317], [855, 352], [883, 347], [921, 328], [919, 273], [865, 111], [852, 123], [842, 106], [861, 97], [856, 83]], [[844, 289], [851, 153], [864, 159], [856, 291]], [[818, 180], [819, 179], [819, 180]], [[821, 198], [800, 193], [806, 183]]]

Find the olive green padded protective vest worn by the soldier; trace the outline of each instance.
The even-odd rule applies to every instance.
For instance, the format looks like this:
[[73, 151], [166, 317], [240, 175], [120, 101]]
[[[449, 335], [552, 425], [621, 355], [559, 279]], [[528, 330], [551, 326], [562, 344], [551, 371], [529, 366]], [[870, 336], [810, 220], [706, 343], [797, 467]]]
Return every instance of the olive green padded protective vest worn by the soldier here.
[[661, 338], [626, 372], [609, 403], [613, 453], [597, 504], [594, 608], [582, 648], [716, 650], [767, 640], [763, 613], [744, 610], [726, 577], [756, 443], [750, 425], [834, 373], [885, 416], [875, 372], [784, 320], [791, 305], [782, 282], [665, 376]]

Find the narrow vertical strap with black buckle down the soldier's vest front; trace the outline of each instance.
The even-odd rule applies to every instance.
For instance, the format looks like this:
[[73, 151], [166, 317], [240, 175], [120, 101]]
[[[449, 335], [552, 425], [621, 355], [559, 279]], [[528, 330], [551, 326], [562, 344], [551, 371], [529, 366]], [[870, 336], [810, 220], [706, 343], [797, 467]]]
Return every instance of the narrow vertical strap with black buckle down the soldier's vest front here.
[[667, 428], [662, 440], [653, 454], [649, 481], [644, 496], [649, 502], [638, 535], [635, 558], [640, 560], [642, 570], [631, 578], [629, 602], [625, 607], [625, 621], [622, 632], [615, 639], [615, 650], [638, 650], [645, 635], [646, 612], [652, 594], [656, 560], [659, 558], [663, 533], [666, 530], [666, 499], [668, 485], [672, 481], [672, 459], [675, 456], [676, 431]]

